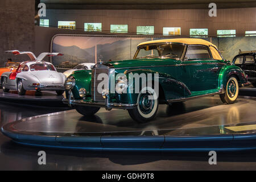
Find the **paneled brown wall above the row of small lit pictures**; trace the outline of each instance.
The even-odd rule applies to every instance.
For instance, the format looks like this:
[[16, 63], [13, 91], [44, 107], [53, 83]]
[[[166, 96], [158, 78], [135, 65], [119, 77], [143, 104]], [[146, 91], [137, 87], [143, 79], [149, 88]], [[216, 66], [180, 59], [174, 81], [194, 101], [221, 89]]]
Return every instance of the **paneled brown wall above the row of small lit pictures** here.
[[[207, 8], [207, 7], [206, 7]], [[129, 32], [137, 26], [155, 26], [155, 34], [162, 34], [163, 27], [181, 27], [181, 35], [189, 35], [189, 28], [208, 28], [209, 36], [217, 30], [235, 29], [237, 34], [256, 30], [256, 8], [217, 9], [217, 17], [208, 15], [209, 9], [184, 10], [47, 10], [51, 27], [58, 20], [76, 21], [77, 29], [84, 23], [102, 23], [102, 30], [109, 31], [110, 24], [128, 24]]]

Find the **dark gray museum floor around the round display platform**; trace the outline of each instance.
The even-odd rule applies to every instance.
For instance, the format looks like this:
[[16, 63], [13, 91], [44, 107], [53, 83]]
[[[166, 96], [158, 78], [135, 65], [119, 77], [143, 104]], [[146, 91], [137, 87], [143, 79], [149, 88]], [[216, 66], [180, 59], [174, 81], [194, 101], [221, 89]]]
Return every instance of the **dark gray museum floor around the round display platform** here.
[[[187, 108], [189, 110], [189, 108]], [[0, 104], [1, 125], [60, 110]], [[208, 152], [88, 152], [21, 146], [0, 134], [1, 170], [230, 170], [256, 169], [256, 151], [217, 153], [217, 165], [208, 163]], [[47, 164], [38, 164], [46, 151]]]

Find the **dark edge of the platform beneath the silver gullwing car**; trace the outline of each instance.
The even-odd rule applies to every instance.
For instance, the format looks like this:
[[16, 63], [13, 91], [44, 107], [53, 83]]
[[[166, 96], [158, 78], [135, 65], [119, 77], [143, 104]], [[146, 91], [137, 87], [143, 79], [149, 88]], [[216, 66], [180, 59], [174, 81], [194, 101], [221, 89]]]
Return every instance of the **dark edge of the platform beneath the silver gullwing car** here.
[[36, 105], [44, 107], [67, 107], [67, 104], [63, 104], [62, 98], [26, 98], [26, 97], [11, 97], [1, 96], [0, 102], [19, 104], [19, 105]]

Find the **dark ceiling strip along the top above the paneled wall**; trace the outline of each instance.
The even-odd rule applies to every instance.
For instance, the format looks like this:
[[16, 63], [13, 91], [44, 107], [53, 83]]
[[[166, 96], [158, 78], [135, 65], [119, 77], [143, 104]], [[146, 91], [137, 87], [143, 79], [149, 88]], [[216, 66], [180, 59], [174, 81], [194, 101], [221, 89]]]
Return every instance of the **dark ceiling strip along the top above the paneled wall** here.
[[[208, 9], [212, 0], [41, 0], [49, 9]], [[214, 0], [217, 7], [256, 7], [255, 0]]]

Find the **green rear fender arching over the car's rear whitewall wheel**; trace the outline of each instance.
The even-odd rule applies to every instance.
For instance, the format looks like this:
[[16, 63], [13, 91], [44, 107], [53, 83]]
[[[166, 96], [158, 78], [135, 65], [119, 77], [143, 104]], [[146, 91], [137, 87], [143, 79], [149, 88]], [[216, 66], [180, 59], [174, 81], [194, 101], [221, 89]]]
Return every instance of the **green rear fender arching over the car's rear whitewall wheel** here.
[[229, 77], [236, 75], [238, 78], [238, 83], [245, 84], [247, 81], [245, 73], [240, 67], [236, 65], [225, 65], [221, 68], [219, 79], [218, 79], [218, 88], [224, 88], [226, 90], [226, 84], [228, 83]]

